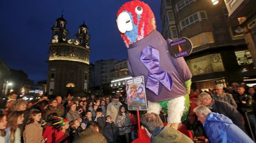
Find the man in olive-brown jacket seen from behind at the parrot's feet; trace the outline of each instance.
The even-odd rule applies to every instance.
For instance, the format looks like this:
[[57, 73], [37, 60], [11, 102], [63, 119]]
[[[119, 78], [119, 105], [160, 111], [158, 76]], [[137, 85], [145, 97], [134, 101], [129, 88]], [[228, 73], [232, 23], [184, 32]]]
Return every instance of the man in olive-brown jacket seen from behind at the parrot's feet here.
[[146, 130], [147, 136], [152, 143], [177, 142], [193, 143], [185, 134], [172, 127], [164, 127], [163, 122], [158, 114], [146, 113], [141, 117], [141, 124]]

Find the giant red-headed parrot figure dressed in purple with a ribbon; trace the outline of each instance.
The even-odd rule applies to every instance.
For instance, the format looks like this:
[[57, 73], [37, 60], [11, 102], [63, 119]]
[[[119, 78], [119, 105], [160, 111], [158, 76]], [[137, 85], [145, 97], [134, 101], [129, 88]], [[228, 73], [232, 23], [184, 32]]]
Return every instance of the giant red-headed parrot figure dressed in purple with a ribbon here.
[[169, 44], [156, 30], [153, 11], [148, 4], [126, 2], [117, 12], [117, 27], [128, 51], [127, 65], [132, 77], [143, 75], [148, 113], [168, 114], [167, 122], [175, 129], [189, 110], [191, 72], [183, 57], [168, 53]]

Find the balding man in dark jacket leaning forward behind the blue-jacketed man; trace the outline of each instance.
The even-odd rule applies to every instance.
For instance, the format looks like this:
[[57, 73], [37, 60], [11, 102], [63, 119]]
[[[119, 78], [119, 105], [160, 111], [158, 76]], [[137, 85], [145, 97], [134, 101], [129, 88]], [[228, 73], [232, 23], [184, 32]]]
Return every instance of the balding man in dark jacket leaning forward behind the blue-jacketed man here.
[[212, 112], [229, 117], [229, 119], [231, 119], [235, 125], [246, 133], [244, 127], [244, 117], [236, 110], [235, 107], [226, 102], [213, 100], [207, 92], [202, 92], [199, 94], [198, 99], [201, 101], [202, 105], [207, 106]]

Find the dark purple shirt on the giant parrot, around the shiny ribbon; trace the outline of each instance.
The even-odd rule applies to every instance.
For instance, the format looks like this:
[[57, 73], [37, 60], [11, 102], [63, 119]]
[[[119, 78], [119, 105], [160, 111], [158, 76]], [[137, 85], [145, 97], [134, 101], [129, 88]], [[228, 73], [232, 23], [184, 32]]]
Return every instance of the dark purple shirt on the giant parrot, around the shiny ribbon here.
[[[171, 40], [169, 39], [169, 42]], [[128, 69], [132, 77], [143, 75], [145, 85], [148, 79], [148, 69], [140, 61], [142, 50], [151, 46], [159, 52], [160, 67], [166, 71], [172, 78], [172, 88], [167, 89], [162, 83], [159, 83], [158, 95], [146, 88], [146, 95], [150, 102], [162, 102], [167, 99], [177, 98], [187, 94], [185, 81], [191, 79], [192, 74], [183, 57], [174, 58], [168, 51], [168, 42], [156, 30], [149, 33], [149, 35], [137, 43], [131, 44], [128, 51]]]

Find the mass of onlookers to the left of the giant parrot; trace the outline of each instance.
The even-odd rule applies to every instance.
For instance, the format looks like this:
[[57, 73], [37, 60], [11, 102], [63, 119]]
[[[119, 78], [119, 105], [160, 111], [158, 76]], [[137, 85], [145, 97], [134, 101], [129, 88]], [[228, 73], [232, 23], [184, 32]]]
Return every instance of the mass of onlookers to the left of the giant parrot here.
[[[131, 142], [137, 119], [127, 98], [41, 96], [17, 99], [11, 92], [0, 105], [0, 142]], [[122, 99], [119, 101], [119, 99]], [[121, 103], [122, 102], [122, 103]]]

